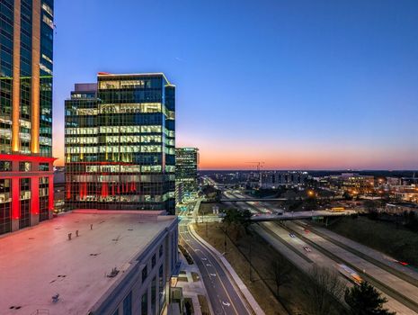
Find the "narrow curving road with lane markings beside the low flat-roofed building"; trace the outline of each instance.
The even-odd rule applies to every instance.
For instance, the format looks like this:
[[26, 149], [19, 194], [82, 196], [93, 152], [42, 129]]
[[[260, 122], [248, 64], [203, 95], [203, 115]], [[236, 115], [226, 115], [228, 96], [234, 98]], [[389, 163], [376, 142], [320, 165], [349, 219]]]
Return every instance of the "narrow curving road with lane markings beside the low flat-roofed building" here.
[[218, 262], [217, 257], [200, 243], [198, 238], [193, 236], [189, 227], [190, 223], [190, 218], [182, 217], [179, 225], [181, 243], [199, 267], [213, 313], [215, 315], [252, 314], [251, 311], [248, 311], [240, 293], [236, 291], [236, 287]]

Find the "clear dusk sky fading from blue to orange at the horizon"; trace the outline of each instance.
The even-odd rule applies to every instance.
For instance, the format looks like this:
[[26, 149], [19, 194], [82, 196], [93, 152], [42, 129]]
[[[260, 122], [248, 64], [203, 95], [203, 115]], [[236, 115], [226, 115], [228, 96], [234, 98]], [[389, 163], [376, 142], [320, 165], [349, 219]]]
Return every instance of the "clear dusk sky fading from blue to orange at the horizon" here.
[[165, 72], [201, 169], [417, 169], [416, 0], [56, 0], [64, 100], [96, 73]]

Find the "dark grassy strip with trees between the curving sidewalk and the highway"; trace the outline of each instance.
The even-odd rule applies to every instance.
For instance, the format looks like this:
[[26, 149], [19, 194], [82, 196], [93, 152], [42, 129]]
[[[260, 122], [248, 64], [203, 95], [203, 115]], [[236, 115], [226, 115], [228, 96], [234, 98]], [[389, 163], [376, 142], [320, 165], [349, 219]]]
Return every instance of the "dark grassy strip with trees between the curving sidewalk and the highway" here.
[[[226, 238], [221, 227], [221, 223], [209, 223], [207, 237], [206, 226], [195, 224], [195, 229], [202, 238], [209, 241], [220, 252], [224, 252]], [[302, 290], [307, 286], [308, 281], [305, 274], [291, 265], [285, 257], [282, 257], [256, 234], [247, 234], [236, 240], [233, 239], [227, 238], [227, 260], [266, 314], [307, 315], [310, 313], [307, 310], [309, 296]], [[251, 281], [248, 262], [250, 244], [253, 265]], [[273, 272], [277, 264], [281, 270], [286, 270], [287, 278], [279, 287], [279, 298]], [[334, 311], [333, 314], [340, 314], [340, 311]]]

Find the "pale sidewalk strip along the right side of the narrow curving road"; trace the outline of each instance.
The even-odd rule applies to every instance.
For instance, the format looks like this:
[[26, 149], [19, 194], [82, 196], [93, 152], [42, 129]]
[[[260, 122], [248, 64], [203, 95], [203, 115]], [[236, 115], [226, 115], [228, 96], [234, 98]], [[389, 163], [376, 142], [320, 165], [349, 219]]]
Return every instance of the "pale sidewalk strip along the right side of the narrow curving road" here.
[[265, 315], [264, 311], [262, 311], [262, 308], [260, 307], [260, 305], [255, 301], [255, 299], [253, 298], [253, 294], [250, 293], [250, 291], [248, 290], [248, 288], [246, 287], [246, 285], [243, 283], [243, 281], [240, 279], [240, 277], [238, 275], [236, 275], [236, 271], [234, 270], [234, 268], [228, 263], [227, 259], [225, 257], [222, 256], [221, 253], [218, 252], [218, 250], [211, 246], [206, 240], [204, 240], [203, 238], [200, 238], [199, 234], [193, 229], [193, 226], [190, 225], [189, 226], [191, 229], [191, 234], [193, 234], [193, 236], [197, 239], [199, 239], [199, 241], [205, 245], [205, 247], [208, 247], [209, 250], [216, 256], [218, 257], [218, 259], [220, 260], [220, 262], [222, 263], [222, 265], [227, 269], [227, 272], [229, 275], [231, 275], [232, 279], [234, 280], [233, 283], [236, 284], [236, 286], [238, 287], [238, 289], [240, 290], [240, 292], [244, 295], [246, 302], [249, 304], [249, 306], [253, 309], [253, 312], [257, 315]]

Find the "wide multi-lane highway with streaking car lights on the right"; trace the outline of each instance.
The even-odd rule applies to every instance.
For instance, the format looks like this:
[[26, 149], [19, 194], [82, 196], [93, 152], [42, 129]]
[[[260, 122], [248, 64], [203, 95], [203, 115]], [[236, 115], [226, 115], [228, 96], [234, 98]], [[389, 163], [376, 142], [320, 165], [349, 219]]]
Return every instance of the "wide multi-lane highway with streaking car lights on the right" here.
[[[226, 195], [234, 198], [245, 197], [241, 193], [227, 192]], [[271, 211], [271, 206], [262, 202], [236, 202], [236, 205], [252, 212]], [[273, 211], [277, 210], [273, 209]], [[328, 266], [334, 270], [335, 266], [341, 263], [351, 266], [387, 296], [389, 300], [386, 304], [387, 308], [398, 314], [418, 313], [418, 303], [416, 302], [418, 301], [418, 287], [414, 276], [410, 276], [410, 269], [405, 266], [394, 267], [393, 258], [387, 257], [387, 262], [380, 261], [384, 266], [379, 265], [375, 257], [369, 257], [365, 253], [360, 255], [359, 251], [350, 250], [323, 234], [321, 236], [313, 229], [309, 229], [307, 232], [306, 227], [295, 222], [287, 221], [283, 225], [277, 222], [263, 222], [258, 226], [259, 228], [255, 230], [259, 234], [262, 233], [264, 238], [270, 240], [271, 243], [275, 242], [276, 248], [287, 251], [287, 257], [297, 260], [294, 263], [302, 268], [307, 269], [312, 263], [316, 263], [318, 266]], [[294, 234], [295, 237], [290, 237], [290, 234]], [[309, 247], [310, 252], [307, 252], [304, 247]], [[293, 250], [298, 255], [289, 255], [289, 250]], [[301, 259], [301, 257], [307, 257], [307, 259]]]

